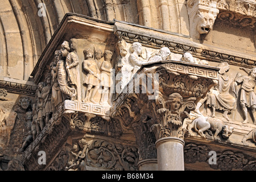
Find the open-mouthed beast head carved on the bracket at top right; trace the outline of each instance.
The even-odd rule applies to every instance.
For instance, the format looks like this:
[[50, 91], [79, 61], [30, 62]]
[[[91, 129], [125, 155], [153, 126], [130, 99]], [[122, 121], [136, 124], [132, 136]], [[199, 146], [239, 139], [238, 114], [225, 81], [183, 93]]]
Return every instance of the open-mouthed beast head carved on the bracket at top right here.
[[208, 32], [213, 28], [214, 20], [217, 15], [200, 11], [198, 11], [197, 15], [197, 31], [199, 34], [208, 34]]

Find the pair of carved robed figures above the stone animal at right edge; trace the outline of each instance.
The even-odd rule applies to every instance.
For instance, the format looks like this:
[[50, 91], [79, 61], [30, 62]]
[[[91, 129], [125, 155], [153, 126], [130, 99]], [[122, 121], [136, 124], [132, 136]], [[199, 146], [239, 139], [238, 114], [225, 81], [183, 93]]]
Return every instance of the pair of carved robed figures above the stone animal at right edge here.
[[[195, 112], [200, 113], [199, 108], [206, 101], [206, 105], [210, 107], [211, 114], [210, 117], [215, 117], [215, 111], [223, 111], [223, 117], [230, 121], [228, 114], [237, 109], [237, 99], [239, 99], [241, 110], [242, 110], [242, 123], [249, 122], [249, 113], [253, 120], [254, 125], [256, 125], [256, 120], [254, 117], [254, 112], [256, 109], [256, 94], [254, 92], [254, 87], [256, 85], [256, 68], [240, 68], [243, 69], [248, 76], [242, 76], [241, 73], [237, 73], [235, 78], [230, 78], [227, 75], [229, 71], [229, 64], [226, 62], [221, 62], [217, 66], [220, 68], [219, 71], [219, 81], [213, 89], [207, 94], [207, 97], [201, 99], [196, 106]], [[240, 92], [238, 92], [237, 86], [241, 84]], [[240, 96], [238, 96], [240, 93]], [[249, 110], [249, 112], [248, 112]]]

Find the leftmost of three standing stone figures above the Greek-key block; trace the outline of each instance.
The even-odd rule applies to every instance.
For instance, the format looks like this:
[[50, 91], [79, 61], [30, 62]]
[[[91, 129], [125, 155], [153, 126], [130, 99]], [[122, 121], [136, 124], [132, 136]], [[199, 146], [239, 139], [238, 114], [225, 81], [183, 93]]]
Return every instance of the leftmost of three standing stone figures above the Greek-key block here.
[[84, 79], [84, 85], [86, 86], [85, 97], [83, 102], [87, 102], [88, 100], [94, 104], [97, 102], [94, 101], [94, 96], [97, 90], [100, 88], [100, 70], [98, 69], [98, 65], [96, 61], [93, 59], [93, 50], [85, 49], [84, 50], [84, 61], [82, 62], [82, 68], [87, 75]]

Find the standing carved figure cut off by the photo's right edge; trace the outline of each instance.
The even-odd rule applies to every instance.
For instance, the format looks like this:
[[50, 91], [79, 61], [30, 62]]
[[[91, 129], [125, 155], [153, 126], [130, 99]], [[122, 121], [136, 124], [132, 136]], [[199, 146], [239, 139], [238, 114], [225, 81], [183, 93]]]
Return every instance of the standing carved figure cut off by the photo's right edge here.
[[242, 123], [248, 123], [248, 110], [250, 110], [251, 118], [253, 119], [254, 125], [256, 125], [256, 120], [254, 117], [254, 112], [256, 109], [256, 94], [254, 88], [256, 85], [256, 68], [246, 69], [245, 70], [249, 76], [242, 76], [241, 73], [237, 73], [235, 81], [237, 84], [241, 84], [241, 93], [240, 93], [240, 105], [242, 107], [243, 117], [245, 118]]

